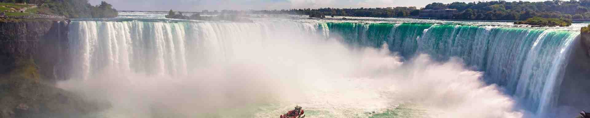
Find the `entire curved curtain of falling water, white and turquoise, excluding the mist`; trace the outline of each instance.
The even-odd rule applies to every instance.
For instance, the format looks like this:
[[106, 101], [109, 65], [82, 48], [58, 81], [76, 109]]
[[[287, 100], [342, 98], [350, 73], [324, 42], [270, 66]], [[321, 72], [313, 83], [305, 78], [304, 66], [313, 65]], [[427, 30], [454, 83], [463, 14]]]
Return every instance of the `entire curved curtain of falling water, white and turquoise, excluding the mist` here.
[[204, 64], [239, 57], [244, 51], [240, 45], [264, 48], [280, 37], [316, 35], [354, 46], [386, 43], [405, 59], [420, 53], [439, 61], [459, 57], [471, 69], [484, 71], [484, 81], [506, 88], [535, 113], [555, 106], [569, 45], [579, 37], [575, 31], [541, 28], [417, 23], [74, 21], [70, 28], [74, 78], [100, 76], [94, 72], [107, 67], [186, 76]]

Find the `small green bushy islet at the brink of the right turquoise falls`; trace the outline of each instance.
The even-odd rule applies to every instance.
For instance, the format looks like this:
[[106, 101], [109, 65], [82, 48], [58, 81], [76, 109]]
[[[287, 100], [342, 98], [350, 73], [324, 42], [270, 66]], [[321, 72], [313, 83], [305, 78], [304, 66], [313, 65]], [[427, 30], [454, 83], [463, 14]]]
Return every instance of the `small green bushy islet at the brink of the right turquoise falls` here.
[[514, 24], [538, 25], [541, 27], [546, 27], [546, 26], [568, 27], [569, 25], [572, 25], [572, 20], [565, 19], [565, 18], [557, 19], [557, 18], [535, 17], [535, 18], [526, 19], [526, 21], [514, 22]]

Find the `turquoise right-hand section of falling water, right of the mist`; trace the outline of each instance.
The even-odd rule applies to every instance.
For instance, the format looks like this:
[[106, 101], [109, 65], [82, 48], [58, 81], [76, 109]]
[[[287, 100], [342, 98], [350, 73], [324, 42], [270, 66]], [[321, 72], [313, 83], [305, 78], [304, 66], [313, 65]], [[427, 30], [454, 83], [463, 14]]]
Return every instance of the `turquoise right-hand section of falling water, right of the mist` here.
[[330, 35], [342, 35], [348, 44], [381, 47], [386, 43], [404, 58], [417, 54], [439, 61], [461, 58], [468, 67], [484, 71], [484, 81], [504, 87], [505, 93], [521, 99], [533, 112], [546, 110], [556, 99], [552, 87], [563, 79], [556, 73], [562, 73], [568, 46], [579, 35], [568, 30], [474, 25], [326, 24]]

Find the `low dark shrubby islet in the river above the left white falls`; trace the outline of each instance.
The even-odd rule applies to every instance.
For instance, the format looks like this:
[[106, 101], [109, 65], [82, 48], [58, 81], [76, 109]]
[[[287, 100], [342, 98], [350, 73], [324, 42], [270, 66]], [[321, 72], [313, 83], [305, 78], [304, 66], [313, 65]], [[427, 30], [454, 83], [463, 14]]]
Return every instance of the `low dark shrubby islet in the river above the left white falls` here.
[[192, 20], [204, 20], [204, 21], [237, 21], [237, 22], [253, 22], [251, 19], [242, 18], [239, 14], [218, 14], [215, 16], [201, 16], [201, 14], [192, 14], [192, 15], [183, 15], [182, 12], [170, 11], [168, 15], [165, 16], [166, 18], [175, 18], [175, 19], [192, 19]]

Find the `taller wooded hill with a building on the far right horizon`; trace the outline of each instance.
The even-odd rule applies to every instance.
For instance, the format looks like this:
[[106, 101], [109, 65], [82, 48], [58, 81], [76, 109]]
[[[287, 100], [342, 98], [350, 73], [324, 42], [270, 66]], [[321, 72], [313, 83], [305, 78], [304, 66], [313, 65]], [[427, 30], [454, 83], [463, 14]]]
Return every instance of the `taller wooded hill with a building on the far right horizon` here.
[[524, 21], [533, 17], [585, 19], [590, 18], [590, 0], [545, 2], [453, 2], [432, 3], [424, 9], [450, 8], [459, 12], [453, 19]]

